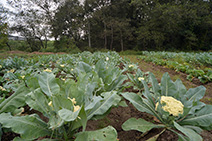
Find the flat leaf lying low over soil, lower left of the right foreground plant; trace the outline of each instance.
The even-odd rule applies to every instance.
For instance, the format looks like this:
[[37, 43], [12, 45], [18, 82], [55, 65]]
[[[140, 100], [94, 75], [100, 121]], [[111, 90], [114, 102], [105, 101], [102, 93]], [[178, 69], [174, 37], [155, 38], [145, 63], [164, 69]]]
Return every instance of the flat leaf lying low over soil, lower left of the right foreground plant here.
[[124, 131], [137, 130], [143, 133], [151, 130], [152, 128], [160, 128], [160, 127], [164, 127], [164, 126], [147, 122], [146, 120], [141, 118], [139, 119], [130, 118], [122, 124], [122, 129], [124, 129]]

